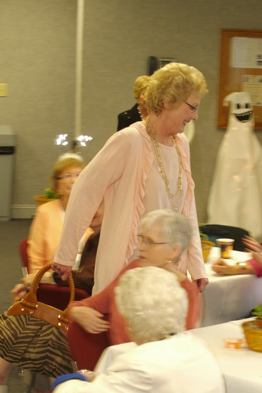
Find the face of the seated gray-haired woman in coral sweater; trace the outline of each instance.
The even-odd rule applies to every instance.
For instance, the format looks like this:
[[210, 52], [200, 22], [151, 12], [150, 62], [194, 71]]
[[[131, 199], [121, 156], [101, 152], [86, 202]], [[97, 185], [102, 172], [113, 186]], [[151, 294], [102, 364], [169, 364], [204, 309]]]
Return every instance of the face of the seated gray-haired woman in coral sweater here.
[[179, 255], [177, 247], [167, 248], [166, 240], [159, 234], [158, 225], [155, 224], [149, 231], [142, 231], [140, 238], [140, 259], [144, 266], [162, 268], [167, 260], [174, 259]]

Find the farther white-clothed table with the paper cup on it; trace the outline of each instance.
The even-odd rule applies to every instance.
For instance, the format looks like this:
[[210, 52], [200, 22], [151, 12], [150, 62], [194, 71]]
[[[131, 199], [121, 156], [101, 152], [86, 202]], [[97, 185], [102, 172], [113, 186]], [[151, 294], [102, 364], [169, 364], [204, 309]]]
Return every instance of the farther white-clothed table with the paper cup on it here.
[[[206, 271], [209, 284], [202, 294], [202, 326], [211, 326], [246, 318], [253, 307], [262, 302], [262, 279], [256, 275], [222, 276], [212, 271], [211, 265], [219, 257], [219, 248], [209, 253]], [[246, 252], [231, 251], [228, 264], [247, 260]]]

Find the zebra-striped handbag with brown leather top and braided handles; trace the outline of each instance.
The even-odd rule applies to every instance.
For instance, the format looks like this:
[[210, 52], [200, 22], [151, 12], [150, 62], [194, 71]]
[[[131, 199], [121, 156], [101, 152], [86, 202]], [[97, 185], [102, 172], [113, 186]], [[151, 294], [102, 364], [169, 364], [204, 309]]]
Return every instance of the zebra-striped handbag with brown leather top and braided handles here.
[[[21, 301], [0, 315], [0, 357], [21, 368], [46, 376], [75, 371], [66, 332], [67, 308], [61, 311], [37, 301], [42, 276], [52, 264], [44, 266]], [[68, 278], [71, 304], [75, 298], [72, 275]]]

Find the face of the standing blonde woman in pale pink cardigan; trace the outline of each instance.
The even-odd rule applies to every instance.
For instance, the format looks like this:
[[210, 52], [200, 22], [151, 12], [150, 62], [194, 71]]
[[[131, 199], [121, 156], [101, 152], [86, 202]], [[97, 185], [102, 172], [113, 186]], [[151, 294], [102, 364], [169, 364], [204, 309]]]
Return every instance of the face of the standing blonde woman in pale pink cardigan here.
[[[166, 123], [166, 128], [172, 130], [172, 135], [181, 134], [190, 120], [198, 119], [198, 108], [200, 105], [201, 96], [198, 92], [193, 91], [188, 97], [186, 102], [171, 109], [163, 110], [163, 119]], [[164, 104], [165, 105], [165, 104]], [[194, 107], [192, 108], [191, 105]]]

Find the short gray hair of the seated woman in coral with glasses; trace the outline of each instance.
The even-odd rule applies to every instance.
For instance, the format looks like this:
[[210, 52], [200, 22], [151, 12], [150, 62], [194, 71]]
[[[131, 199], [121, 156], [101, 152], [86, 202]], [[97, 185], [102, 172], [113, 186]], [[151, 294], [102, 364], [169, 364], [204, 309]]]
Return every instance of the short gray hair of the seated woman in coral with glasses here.
[[[167, 243], [180, 244], [181, 253], [189, 246], [192, 227], [188, 219], [171, 209], [154, 210], [141, 220], [142, 231], [150, 231], [157, 225], [159, 234]], [[166, 244], [171, 247], [171, 244]]]

